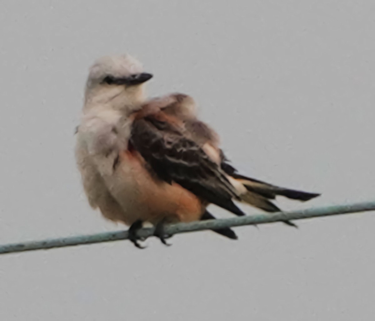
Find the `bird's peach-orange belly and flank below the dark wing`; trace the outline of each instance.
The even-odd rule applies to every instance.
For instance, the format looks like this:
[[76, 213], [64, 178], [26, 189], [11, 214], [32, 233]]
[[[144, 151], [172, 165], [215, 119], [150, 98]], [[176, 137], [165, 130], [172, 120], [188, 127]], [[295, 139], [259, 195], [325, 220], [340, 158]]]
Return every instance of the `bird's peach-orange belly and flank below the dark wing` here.
[[150, 175], [144, 159], [136, 152], [120, 154], [113, 195], [124, 211], [124, 222], [137, 219], [155, 224], [168, 221], [199, 220], [203, 206], [191, 192], [176, 183], [168, 184]]

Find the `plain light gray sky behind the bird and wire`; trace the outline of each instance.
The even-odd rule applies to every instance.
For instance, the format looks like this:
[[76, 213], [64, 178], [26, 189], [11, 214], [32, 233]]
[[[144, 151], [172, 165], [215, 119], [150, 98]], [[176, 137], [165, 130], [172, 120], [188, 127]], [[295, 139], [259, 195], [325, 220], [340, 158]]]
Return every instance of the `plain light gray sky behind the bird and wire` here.
[[[284, 209], [375, 199], [374, 10], [1, 1], [0, 243], [123, 228], [89, 208], [73, 154], [87, 70], [108, 53], [138, 57], [150, 95], [193, 95], [245, 174], [323, 193]], [[374, 320], [374, 215], [297, 223], [4, 255], [0, 319]]]

